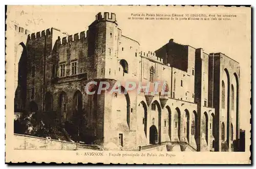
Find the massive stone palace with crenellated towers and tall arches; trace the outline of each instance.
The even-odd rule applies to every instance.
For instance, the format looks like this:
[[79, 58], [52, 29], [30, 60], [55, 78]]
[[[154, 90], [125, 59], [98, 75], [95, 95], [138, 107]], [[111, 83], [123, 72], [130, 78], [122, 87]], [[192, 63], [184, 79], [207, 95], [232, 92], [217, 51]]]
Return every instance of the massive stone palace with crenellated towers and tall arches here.
[[[237, 150], [240, 67], [224, 54], [206, 54], [173, 39], [154, 52], [141, 51], [108, 12], [98, 13], [86, 32], [67, 36], [51, 28], [22, 34], [26, 39], [14, 45], [23, 51], [17, 53], [15, 111], [55, 110], [64, 123], [80, 114], [86, 120], [83, 135], [123, 150], [160, 143]], [[84, 87], [92, 81], [164, 82], [168, 94], [91, 95]]]

